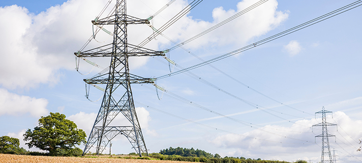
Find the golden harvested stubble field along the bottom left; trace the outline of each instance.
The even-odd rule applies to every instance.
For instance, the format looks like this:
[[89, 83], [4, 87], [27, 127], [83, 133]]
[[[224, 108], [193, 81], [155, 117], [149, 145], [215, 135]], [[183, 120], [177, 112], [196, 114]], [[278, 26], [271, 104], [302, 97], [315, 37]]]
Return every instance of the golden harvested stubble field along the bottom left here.
[[[111, 162], [111, 163], [180, 163], [181, 161], [169, 161], [169, 160], [149, 160], [149, 159], [125, 159], [125, 158], [89, 158], [89, 157], [51, 157], [51, 156], [32, 156], [32, 155], [15, 155], [15, 154], [0, 154], [0, 162], [21, 162], [21, 163], [78, 163], [78, 162]], [[191, 163], [182, 161], [182, 163]], [[193, 162], [195, 163], [195, 162]]]

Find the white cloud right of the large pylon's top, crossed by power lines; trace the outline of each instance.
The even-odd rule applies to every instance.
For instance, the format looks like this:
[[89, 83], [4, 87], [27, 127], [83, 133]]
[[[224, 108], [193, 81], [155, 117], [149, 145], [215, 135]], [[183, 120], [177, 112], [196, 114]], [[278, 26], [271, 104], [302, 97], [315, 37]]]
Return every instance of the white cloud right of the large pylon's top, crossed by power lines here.
[[[255, 1], [244, 0], [237, 4], [237, 10], [224, 10], [222, 7], [213, 10], [213, 22], [203, 20], [195, 20], [192, 17], [185, 17], [175, 23], [175, 27], [170, 27], [173, 30], [167, 30], [164, 33], [173, 39], [183, 41], [191, 36], [194, 36], [221, 21], [235, 15], [236, 13], [255, 4]], [[268, 31], [279, 26], [288, 18], [286, 12], [277, 11], [278, 2], [276, 0], [268, 1], [248, 13], [230, 21], [229, 23], [215, 29], [214, 31], [203, 35], [196, 39], [196, 44], [187, 44], [187, 48], [200, 48], [200, 46], [243, 46], [252, 38], [261, 36]], [[186, 33], [186, 34], [185, 34]]]

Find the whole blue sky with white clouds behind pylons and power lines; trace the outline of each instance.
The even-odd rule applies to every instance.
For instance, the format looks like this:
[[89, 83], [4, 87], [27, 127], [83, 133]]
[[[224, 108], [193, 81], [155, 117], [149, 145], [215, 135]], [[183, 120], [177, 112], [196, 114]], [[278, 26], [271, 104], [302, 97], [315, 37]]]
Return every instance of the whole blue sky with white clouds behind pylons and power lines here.
[[[92, 36], [92, 23], [107, 0], [0, 2], [0, 135], [20, 139], [34, 129], [41, 116], [60, 112], [89, 135], [103, 92], [83, 79], [102, 69], [75, 56]], [[127, 2], [128, 15], [148, 18], [168, 0]], [[254, 0], [204, 0], [163, 34], [176, 43], [212, 27], [256, 3]], [[354, 1], [269, 0], [220, 28], [170, 51], [177, 67], [162, 57], [132, 57], [130, 71], [158, 77], [212, 59], [334, 11]], [[161, 27], [190, 1], [176, 0], [152, 23]], [[110, 6], [115, 5], [112, 2]], [[106, 13], [109, 10], [106, 10]], [[151, 84], [133, 84], [132, 92], [149, 152], [169, 147], [198, 148], [221, 156], [320, 161], [324, 106], [333, 113], [327, 122], [331, 150], [339, 162], [361, 162], [356, 151], [362, 138], [362, 7], [314, 24], [243, 53], [157, 80], [167, 92]], [[102, 15], [103, 17], [105, 15]], [[105, 26], [109, 31], [113, 26]], [[153, 30], [129, 25], [128, 41], [138, 45]], [[85, 48], [110, 43], [101, 31]], [[174, 44], [161, 35], [144, 47], [166, 50]], [[190, 52], [190, 53], [189, 53]], [[102, 67], [109, 58], [88, 58]], [[100, 85], [105, 88], [105, 86]], [[160, 98], [160, 100], [159, 100]], [[122, 122], [119, 117], [115, 122]], [[134, 152], [125, 137], [112, 140], [112, 153]], [[84, 146], [79, 146], [83, 148]], [[106, 151], [108, 151], [106, 148]], [[31, 148], [30, 150], [39, 151]], [[91, 149], [91, 151], [94, 149]]]

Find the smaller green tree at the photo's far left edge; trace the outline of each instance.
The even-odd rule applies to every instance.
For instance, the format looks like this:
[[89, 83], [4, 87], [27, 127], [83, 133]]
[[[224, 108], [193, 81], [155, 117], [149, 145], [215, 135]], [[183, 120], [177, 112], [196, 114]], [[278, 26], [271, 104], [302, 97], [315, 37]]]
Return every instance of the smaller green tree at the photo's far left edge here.
[[20, 152], [19, 139], [9, 136], [0, 137], [0, 153]]

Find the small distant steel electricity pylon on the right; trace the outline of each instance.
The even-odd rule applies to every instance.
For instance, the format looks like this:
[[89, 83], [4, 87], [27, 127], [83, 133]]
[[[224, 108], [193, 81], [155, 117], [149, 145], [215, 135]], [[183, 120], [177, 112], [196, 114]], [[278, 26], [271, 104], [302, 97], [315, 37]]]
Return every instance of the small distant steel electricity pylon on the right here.
[[322, 138], [322, 156], [320, 158], [321, 163], [333, 163], [332, 155], [330, 154], [330, 147], [329, 147], [329, 139], [328, 137], [332, 137], [335, 135], [328, 134], [327, 126], [337, 126], [336, 124], [327, 123], [325, 119], [325, 113], [332, 113], [331, 111], [327, 111], [324, 109], [324, 106], [322, 107], [321, 111], [316, 112], [322, 114], [322, 123], [313, 125], [315, 126], [321, 126], [322, 127], [322, 134], [317, 135], [315, 137], [321, 137]]

